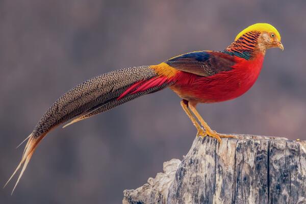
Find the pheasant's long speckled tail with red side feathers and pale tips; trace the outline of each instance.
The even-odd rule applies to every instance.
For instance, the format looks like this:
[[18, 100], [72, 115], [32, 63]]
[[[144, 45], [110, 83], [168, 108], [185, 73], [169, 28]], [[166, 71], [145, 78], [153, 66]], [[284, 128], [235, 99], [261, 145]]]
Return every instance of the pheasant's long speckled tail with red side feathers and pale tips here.
[[28, 137], [19, 165], [5, 186], [22, 167], [14, 189], [16, 188], [38, 143], [58, 125], [74, 118], [67, 124], [69, 125], [111, 110], [142, 95], [159, 91], [172, 83], [168, 78], [159, 76], [150, 66], [139, 66], [101, 74], [75, 86], [61, 96], [41, 117]]

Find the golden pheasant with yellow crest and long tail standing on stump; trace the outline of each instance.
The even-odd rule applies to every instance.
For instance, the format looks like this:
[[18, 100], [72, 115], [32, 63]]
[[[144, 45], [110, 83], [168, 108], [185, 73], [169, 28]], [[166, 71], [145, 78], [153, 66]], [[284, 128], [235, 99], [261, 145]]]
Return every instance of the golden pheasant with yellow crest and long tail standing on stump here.
[[196, 105], [231, 100], [248, 91], [259, 77], [266, 50], [273, 47], [284, 50], [279, 32], [269, 23], [255, 23], [222, 51], [202, 50], [157, 65], [110, 71], [75, 86], [47, 109], [25, 138], [23, 142], [28, 141], [21, 161], [5, 186], [21, 168], [15, 190], [38, 143], [57, 126], [68, 122], [66, 127], [167, 87], [182, 98], [181, 106], [195, 125], [197, 136], [210, 136], [219, 142], [234, 138], [213, 131]]

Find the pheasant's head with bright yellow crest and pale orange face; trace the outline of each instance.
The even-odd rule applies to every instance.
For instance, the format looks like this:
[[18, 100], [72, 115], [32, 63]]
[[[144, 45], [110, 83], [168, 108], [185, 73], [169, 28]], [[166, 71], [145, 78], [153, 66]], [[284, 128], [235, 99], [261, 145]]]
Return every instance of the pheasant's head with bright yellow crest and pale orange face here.
[[242, 36], [248, 36], [254, 32], [259, 34], [257, 46], [263, 52], [272, 47], [278, 47], [284, 50], [284, 46], [281, 42], [281, 35], [279, 35], [279, 32], [269, 23], [256, 23], [250, 25], [236, 36], [235, 41], [239, 40]]

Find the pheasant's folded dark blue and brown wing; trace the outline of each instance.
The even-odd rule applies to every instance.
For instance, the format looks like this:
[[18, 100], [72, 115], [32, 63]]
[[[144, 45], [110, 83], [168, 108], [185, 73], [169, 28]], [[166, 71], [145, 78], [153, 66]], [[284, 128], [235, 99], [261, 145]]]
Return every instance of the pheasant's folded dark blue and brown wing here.
[[225, 53], [199, 51], [171, 58], [165, 63], [181, 71], [209, 77], [216, 73], [232, 70], [235, 60], [233, 56]]

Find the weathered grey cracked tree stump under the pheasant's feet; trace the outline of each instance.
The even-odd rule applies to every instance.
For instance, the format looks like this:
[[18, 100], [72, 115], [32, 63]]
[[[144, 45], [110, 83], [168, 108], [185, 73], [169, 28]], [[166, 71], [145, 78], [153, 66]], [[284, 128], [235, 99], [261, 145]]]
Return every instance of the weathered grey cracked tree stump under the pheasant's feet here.
[[123, 204], [306, 204], [306, 141], [195, 138], [182, 162], [165, 162], [164, 173], [123, 194]]

